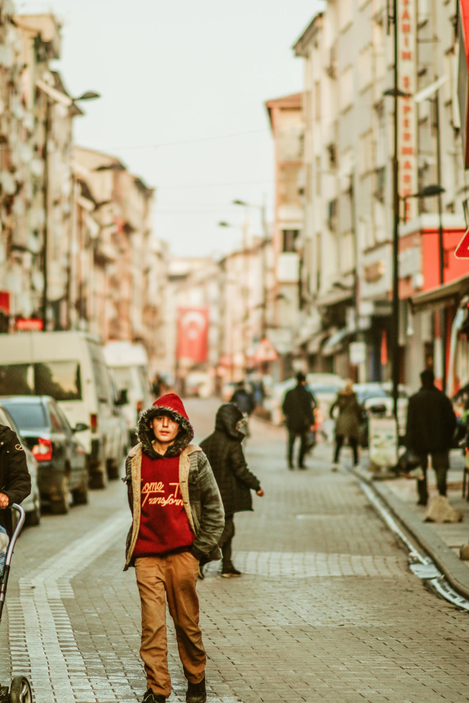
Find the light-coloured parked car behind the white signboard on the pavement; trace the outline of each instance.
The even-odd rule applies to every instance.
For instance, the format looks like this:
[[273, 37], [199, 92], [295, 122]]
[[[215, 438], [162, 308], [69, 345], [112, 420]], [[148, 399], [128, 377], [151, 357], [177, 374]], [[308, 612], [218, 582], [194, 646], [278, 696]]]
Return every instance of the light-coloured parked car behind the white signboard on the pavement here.
[[[392, 400], [392, 385], [390, 382], [379, 383], [355, 383], [354, 391], [356, 397], [364, 408], [361, 415], [360, 427], [360, 444], [363, 447], [368, 446], [368, 412], [371, 408], [382, 406], [383, 415], [390, 417], [394, 412], [394, 404]], [[409, 405], [409, 393], [404, 385], [399, 385], [399, 397], [397, 399], [397, 425], [399, 430], [399, 439], [402, 441], [406, 434], [407, 422], [407, 406]]]

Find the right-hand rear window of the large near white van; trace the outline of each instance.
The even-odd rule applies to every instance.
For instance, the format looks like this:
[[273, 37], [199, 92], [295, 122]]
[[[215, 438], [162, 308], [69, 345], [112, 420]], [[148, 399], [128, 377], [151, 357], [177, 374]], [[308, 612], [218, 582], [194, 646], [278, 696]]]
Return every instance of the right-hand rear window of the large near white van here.
[[81, 400], [82, 379], [78, 361], [42, 361], [34, 364], [36, 395], [54, 400]]

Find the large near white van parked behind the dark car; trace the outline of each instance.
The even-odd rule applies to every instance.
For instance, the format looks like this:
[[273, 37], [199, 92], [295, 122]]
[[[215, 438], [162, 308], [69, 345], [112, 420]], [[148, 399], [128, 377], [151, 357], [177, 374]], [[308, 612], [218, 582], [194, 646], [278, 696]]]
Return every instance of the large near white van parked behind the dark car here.
[[117, 477], [127, 449], [98, 337], [84, 332], [0, 335], [0, 396], [49, 395], [86, 451], [91, 488]]

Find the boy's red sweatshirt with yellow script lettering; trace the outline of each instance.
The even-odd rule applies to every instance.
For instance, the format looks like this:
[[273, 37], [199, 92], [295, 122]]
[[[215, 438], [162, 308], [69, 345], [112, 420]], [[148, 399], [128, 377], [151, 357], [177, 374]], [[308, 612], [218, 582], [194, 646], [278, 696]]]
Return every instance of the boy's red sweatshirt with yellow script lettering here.
[[179, 456], [141, 456], [141, 516], [134, 556], [150, 557], [190, 548], [195, 534], [179, 491]]

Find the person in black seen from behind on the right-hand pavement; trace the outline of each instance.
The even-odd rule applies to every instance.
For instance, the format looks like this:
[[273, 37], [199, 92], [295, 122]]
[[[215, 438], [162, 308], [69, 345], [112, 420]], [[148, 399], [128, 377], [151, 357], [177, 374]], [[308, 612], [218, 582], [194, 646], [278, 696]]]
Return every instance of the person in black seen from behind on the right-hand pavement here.
[[407, 408], [406, 448], [420, 457], [423, 479], [417, 481], [418, 505], [427, 505], [428, 455], [437, 477], [440, 496], [446, 496], [449, 449], [456, 427], [456, 415], [449, 398], [435, 386], [435, 376], [428, 368], [420, 373], [422, 387], [409, 398]]

